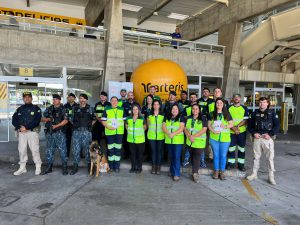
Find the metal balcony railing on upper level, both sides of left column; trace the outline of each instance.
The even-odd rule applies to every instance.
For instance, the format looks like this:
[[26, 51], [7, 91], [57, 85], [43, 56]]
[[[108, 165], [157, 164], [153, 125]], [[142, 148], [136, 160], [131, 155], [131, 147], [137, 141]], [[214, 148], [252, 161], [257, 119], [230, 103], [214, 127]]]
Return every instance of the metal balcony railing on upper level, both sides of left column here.
[[[105, 40], [106, 29], [103, 27], [90, 27], [64, 22], [55, 22], [29, 17], [19, 17], [0, 14], [0, 27], [7, 26], [10, 29], [21, 29], [25, 31], [36, 31], [41, 33], [51, 33], [60, 36], [73, 36], [81, 38], [94, 38]], [[182, 39], [172, 39], [165, 35], [149, 34], [144, 32], [123, 31], [125, 42], [138, 45], [149, 45], [156, 47], [170, 47], [192, 52], [209, 52], [224, 55], [225, 46], [212, 45], [196, 41]]]

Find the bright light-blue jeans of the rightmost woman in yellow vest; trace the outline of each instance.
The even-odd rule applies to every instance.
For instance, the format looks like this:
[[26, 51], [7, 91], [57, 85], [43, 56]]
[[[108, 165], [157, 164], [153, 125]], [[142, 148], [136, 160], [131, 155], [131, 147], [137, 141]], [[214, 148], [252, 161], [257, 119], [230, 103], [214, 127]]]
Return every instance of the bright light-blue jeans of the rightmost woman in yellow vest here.
[[219, 142], [213, 139], [209, 142], [214, 153], [214, 170], [224, 171], [230, 142]]

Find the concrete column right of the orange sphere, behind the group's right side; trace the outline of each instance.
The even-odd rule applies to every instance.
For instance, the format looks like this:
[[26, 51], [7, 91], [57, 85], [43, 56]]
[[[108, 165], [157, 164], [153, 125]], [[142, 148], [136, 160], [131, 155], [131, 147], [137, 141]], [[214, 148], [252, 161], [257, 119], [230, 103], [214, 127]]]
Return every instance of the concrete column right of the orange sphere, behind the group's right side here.
[[219, 29], [219, 44], [226, 46], [223, 78], [223, 96], [228, 99], [239, 92], [241, 23], [231, 23]]

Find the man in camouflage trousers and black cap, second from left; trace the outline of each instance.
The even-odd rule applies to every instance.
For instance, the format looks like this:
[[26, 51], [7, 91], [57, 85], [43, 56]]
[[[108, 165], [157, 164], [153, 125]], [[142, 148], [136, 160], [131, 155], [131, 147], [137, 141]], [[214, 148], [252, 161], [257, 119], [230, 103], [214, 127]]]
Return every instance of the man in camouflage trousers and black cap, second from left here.
[[63, 104], [61, 97], [58, 94], [53, 95], [53, 105], [49, 106], [44, 112], [42, 122], [45, 124], [45, 135], [47, 140], [46, 162], [47, 168], [42, 172], [42, 175], [52, 172], [55, 150], [59, 150], [62, 162], [62, 174], [68, 174], [68, 157], [66, 146], [66, 124], [68, 123], [68, 114]]

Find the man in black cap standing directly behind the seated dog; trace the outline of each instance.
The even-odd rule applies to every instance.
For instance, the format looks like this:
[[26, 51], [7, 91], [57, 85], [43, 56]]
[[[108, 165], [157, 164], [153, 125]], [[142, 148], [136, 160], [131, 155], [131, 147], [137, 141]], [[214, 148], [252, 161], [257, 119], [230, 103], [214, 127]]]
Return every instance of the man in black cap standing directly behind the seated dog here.
[[99, 144], [104, 132], [104, 126], [102, 125], [101, 118], [106, 106], [111, 106], [111, 104], [107, 101], [107, 93], [102, 91], [100, 93], [100, 102], [95, 104], [95, 115], [97, 120], [92, 130], [93, 140], [97, 140]]

